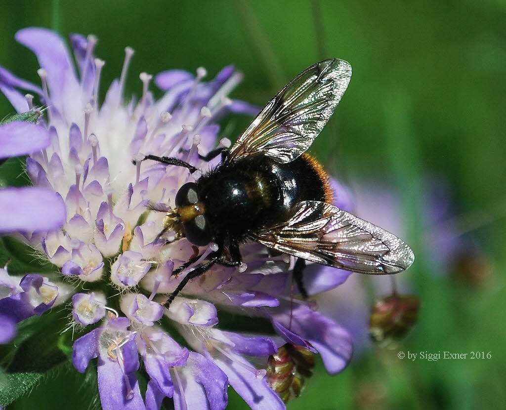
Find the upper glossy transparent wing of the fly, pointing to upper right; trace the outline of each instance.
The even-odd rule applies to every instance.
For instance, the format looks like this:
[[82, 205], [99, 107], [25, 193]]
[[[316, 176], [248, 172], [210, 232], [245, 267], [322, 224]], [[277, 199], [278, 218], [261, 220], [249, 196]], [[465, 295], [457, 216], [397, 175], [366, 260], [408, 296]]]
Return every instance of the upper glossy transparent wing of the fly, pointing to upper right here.
[[227, 162], [263, 153], [286, 163], [313, 143], [350, 82], [351, 66], [321, 61], [291, 80], [258, 114], [234, 144]]

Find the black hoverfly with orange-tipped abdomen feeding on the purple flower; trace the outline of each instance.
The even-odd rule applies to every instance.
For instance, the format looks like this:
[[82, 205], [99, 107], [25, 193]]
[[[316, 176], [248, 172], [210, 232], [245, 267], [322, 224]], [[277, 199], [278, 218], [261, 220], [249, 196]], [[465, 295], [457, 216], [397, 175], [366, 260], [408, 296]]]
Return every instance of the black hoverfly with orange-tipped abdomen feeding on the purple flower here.
[[[230, 150], [219, 148], [222, 162], [195, 183], [184, 184], [162, 232], [173, 230], [193, 245], [215, 242], [218, 249], [180, 282], [163, 306], [168, 308], [193, 278], [215, 264], [239, 266], [239, 244], [247, 240], [297, 257], [293, 278], [303, 296], [305, 261], [363, 274], [396, 274], [414, 260], [399, 238], [331, 205], [332, 192], [322, 166], [305, 152], [343, 96], [351, 66], [321, 61], [300, 73], [267, 104]], [[178, 158], [147, 155], [168, 165], [196, 168]], [[179, 274], [200, 258], [196, 255]]]

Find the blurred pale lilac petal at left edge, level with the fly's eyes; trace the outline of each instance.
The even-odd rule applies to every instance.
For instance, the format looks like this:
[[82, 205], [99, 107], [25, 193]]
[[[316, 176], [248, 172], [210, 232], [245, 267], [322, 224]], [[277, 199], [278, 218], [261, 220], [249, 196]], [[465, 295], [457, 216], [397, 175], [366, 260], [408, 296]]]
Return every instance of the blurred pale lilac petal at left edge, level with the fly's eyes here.
[[65, 204], [52, 191], [35, 187], [0, 190], [0, 233], [53, 230], [65, 218]]

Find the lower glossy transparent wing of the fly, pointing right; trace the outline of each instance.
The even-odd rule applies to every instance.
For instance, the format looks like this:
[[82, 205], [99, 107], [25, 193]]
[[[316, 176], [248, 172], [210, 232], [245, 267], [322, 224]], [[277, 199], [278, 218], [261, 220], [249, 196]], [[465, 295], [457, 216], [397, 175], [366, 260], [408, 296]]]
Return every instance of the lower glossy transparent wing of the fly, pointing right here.
[[362, 274], [396, 274], [414, 260], [395, 235], [333, 205], [304, 201], [288, 222], [254, 236], [261, 244]]

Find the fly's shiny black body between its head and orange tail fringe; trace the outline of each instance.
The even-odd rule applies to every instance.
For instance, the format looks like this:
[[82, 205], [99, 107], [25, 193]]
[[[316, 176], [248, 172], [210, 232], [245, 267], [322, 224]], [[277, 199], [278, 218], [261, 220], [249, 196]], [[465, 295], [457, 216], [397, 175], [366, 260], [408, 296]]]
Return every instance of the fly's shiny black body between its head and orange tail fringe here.
[[298, 202], [325, 200], [322, 177], [306, 156], [287, 164], [262, 155], [238, 160], [197, 184], [212, 232], [238, 241], [286, 221]]

